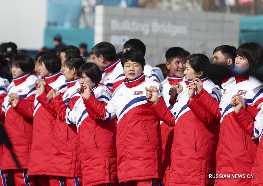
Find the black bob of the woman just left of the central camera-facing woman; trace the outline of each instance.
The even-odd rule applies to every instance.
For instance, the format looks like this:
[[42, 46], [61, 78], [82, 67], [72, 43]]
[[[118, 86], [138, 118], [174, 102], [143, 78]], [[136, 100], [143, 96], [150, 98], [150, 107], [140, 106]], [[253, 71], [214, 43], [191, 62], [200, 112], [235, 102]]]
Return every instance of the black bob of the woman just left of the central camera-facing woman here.
[[85, 73], [93, 83], [96, 85], [99, 84], [102, 74], [95, 63], [85, 63], [84, 65], [81, 65], [77, 72], [78, 77], [81, 77], [83, 73]]

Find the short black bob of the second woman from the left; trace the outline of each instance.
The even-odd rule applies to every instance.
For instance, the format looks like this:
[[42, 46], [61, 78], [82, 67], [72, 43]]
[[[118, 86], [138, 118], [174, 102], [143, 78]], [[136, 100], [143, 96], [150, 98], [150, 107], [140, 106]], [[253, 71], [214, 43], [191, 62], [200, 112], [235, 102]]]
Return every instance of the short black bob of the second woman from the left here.
[[49, 71], [52, 74], [61, 70], [61, 59], [56, 54], [44, 54], [39, 59], [39, 64], [42, 63], [44, 63], [47, 71]]

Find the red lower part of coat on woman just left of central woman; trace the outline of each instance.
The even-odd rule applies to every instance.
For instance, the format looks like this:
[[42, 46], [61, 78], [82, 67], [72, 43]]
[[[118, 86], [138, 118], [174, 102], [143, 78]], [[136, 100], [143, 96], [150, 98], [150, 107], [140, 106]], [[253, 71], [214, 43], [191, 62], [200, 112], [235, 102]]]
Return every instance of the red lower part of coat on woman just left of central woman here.
[[115, 121], [102, 121], [87, 106], [86, 111], [89, 115], [78, 127], [82, 184], [118, 183]]

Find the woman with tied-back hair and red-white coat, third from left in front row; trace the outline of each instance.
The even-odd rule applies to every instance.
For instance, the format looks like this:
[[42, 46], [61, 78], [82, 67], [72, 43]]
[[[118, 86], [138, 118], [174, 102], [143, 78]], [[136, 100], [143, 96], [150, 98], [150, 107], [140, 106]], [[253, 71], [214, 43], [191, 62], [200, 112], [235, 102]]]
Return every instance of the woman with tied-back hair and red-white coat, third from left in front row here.
[[[63, 74], [66, 77], [67, 90], [63, 94], [60, 93], [63, 104], [58, 107], [69, 105], [71, 96], [78, 92], [80, 84], [77, 72], [84, 63], [85, 61], [78, 55], [71, 55], [66, 59]], [[55, 111], [57, 115], [61, 114], [57, 112], [59, 108], [53, 107], [50, 103], [41, 102], [41, 104], [49, 108], [49, 111]], [[50, 175], [50, 185], [81, 185], [77, 129], [74, 125], [65, 125], [65, 115], [63, 118], [56, 117], [56, 123], [54, 123], [54, 142], [46, 174]]]

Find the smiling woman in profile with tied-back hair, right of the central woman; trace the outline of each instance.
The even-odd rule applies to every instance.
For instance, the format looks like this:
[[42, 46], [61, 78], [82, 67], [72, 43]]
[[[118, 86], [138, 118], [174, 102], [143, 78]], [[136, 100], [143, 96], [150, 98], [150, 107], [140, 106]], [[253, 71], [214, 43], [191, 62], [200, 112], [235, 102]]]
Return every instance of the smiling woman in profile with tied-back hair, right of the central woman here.
[[222, 96], [219, 86], [205, 77], [209, 66], [210, 61], [204, 54], [189, 56], [184, 72], [187, 86], [183, 85], [186, 88], [177, 96], [172, 112], [164, 100], [158, 98], [157, 87], [147, 88], [147, 99], [153, 113], [165, 124], [174, 126], [168, 185], [214, 184], [214, 178], [209, 178], [209, 174], [216, 171], [219, 120], [192, 100], [197, 86], [191, 84], [191, 79], [202, 79], [211, 98], [219, 102]]

